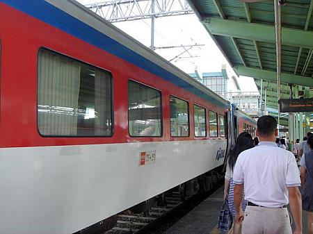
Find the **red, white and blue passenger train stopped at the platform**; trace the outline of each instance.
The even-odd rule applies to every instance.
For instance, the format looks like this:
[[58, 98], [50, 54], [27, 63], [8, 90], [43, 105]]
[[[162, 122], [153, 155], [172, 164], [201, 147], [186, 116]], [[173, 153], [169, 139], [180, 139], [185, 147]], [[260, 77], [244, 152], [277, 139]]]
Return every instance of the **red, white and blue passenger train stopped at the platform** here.
[[254, 119], [74, 0], [1, 0], [0, 62], [3, 234], [104, 224], [223, 167], [236, 135], [255, 134]]

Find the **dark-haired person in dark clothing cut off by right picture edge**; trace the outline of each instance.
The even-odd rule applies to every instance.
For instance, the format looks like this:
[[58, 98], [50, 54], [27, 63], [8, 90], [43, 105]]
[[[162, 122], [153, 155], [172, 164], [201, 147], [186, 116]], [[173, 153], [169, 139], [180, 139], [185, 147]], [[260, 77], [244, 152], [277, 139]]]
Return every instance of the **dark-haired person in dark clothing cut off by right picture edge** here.
[[302, 208], [307, 211], [307, 234], [313, 234], [313, 135], [307, 139], [310, 147], [300, 160]]

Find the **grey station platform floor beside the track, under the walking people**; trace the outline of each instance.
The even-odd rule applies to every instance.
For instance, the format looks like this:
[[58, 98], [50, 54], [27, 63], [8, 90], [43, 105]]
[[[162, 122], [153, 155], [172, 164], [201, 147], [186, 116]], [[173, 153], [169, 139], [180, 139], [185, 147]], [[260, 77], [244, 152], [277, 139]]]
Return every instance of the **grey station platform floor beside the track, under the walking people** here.
[[[224, 186], [221, 186], [163, 234], [218, 234], [217, 220], [223, 205], [223, 190]], [[306, 212], [303, 212], [303, 233], [307, 233], [306, 225]], [[291, 227], [294, 231], [294, 222]]]

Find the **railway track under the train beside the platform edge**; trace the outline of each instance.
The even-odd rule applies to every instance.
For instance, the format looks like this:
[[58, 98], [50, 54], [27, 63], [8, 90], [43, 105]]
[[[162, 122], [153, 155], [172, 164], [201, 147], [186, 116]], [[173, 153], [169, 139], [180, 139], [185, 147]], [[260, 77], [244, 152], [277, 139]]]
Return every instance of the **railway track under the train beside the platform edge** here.
[[[183, 217], [186, 213], [192, 210], [201, 201], [206, 199], [209, 194], [213, 193], [220, 185], [223, 179], [216, 173], [211, 175], [210, 190], [207, 192], [200, 192], [186, 201], [182, 201], [178, 191], [171, 191], [166, 193], [166, 203], [163, 206], [152, 206], [147, 212], [141, 214], [133, 214], [129, 210], [118, 214], [118, 222], [110, 231], [104, 234], [143, 234], [143, 233], [157, 233], [159, 226], [166, 222], [172, 222], [170, 219], [172, 215], [177, 219], [178, 216]], [[188, 208], [186, 208], [188, 206]], [[178, 219], [180, 219], [179, 217]], [[178, 220], [177, 219], [177, 220]], [[174, 221], [174, 222], [177, 222]], [[163, 222], [163, 224], [162, 224]], [[169, 224], [167, 224], [168, 226]]]

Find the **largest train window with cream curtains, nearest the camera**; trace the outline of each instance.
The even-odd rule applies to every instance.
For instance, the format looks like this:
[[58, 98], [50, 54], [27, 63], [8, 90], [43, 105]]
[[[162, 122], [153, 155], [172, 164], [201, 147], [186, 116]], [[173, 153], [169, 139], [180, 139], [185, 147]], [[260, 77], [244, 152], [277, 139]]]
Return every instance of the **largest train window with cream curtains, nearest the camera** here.
[[40, 134], [83, 137], [112, 135], [111, 79], [110, 72], [40, 49]]

